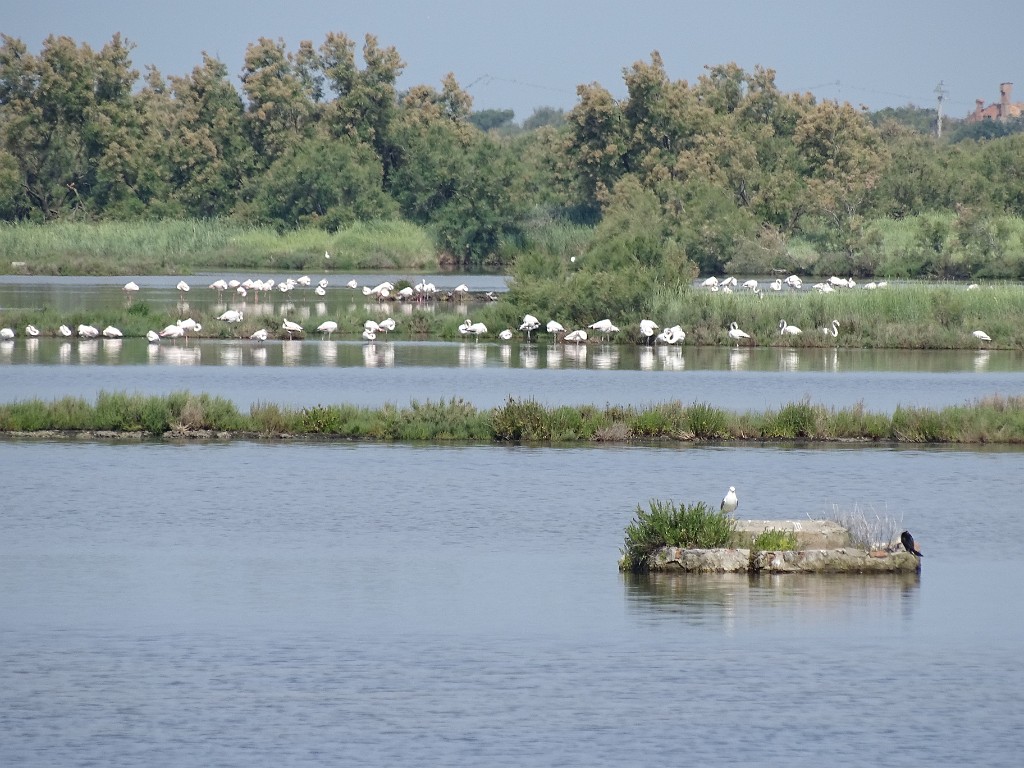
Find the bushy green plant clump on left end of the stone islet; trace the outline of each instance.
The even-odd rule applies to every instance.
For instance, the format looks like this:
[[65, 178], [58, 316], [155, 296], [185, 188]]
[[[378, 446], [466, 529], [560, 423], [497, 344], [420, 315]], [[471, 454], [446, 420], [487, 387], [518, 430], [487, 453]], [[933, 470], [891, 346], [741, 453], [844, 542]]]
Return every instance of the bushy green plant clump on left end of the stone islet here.
[[680, 505], [651, 499], [650, 509], [637, 505], [636, 518], [626, 526], [623, 563], [627, 570], [646, 570], [662, 547], [714, 549], [724, 547], [736, 527], [729, 515], [703, 502]]

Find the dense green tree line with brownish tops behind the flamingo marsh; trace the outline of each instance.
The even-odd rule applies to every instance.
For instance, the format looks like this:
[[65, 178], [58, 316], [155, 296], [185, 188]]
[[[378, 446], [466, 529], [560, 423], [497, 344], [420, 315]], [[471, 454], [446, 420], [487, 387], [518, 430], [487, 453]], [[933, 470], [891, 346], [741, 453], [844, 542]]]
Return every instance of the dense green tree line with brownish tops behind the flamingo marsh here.
[[798, 241], [819, 271], [872, 273], [886, 222], [910, 221], [910, 271], [1024, 276], [1007, 245], [1024, 215], [1016, 123], [937, 139], [927, 110], [872, 115], [734, 63], [674, 81], [655, 51], [624, 69], [625, 97], [581, 85], [570, 112], [520, 127], [473, 112], [453, 75], [399, 91], [404, 62], [373, 35], [358, 54], [340, 33], [260, 38], [237, 81], [206, 54], [140, 76], [132, 48], [52, 36], [36, 54], [0, 36], [0, 220], [402, 218], [452, 263], [540, 251], [536, 271], [551, 228], [575, 226], [577, 268], [665, 279], [792, 268]]

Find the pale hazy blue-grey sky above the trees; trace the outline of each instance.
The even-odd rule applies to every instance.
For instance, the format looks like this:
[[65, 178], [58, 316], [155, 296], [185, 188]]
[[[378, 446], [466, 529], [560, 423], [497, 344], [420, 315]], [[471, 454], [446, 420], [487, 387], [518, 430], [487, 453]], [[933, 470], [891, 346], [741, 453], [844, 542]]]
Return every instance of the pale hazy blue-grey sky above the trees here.
[[[236, 85], [246, 47], [260, 37], [319, 46], [329, 32], [361, 48], [366, 34], [406, 61], [400, 89], [440, 88], [447, 73], [474, 110], [570, 110], [577, 86], [599, 83], [623, 98], [623, 70], [657, 50], [672, 80], [706, 66], [773, 69], [783, 91], [871, 111], [934, 108], [965, 117], [975, 99], [998, 100], [1017, 82], [1024, 101], [1024, 3], [1007, 0], [0, 0], [0, 32], [38, 53], [49, 35], [99, 48], [115, 33], [135, 44], [132, 63], [186, 75], [203, 52]], [[6, 6], [6, 7], [5, 7]], [[361, 60], [359, 60], [361, 66]]]

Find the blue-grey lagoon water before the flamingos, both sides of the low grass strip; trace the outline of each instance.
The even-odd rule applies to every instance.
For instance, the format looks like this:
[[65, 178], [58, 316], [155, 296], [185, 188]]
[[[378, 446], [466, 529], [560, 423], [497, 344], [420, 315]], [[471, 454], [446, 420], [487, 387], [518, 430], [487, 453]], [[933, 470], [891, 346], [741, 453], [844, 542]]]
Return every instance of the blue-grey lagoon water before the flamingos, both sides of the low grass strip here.
[[[17, 339], [0, 393], [890, 409], [1024, 390], [997, 352], [262, 349]], [[1017, 765], [1022, 466], [1016, 447], [0, 440], [0, 765]], [[894, 517], [922, 573], [617, 571], [637, 504], [730, 484], [744, 517]]]

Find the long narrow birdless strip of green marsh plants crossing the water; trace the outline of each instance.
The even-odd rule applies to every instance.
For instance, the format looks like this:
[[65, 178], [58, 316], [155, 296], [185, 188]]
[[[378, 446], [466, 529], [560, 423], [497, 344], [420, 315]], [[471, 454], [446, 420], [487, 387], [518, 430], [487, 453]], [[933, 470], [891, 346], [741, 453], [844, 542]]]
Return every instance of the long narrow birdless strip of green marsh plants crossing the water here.
[[352, 404], [288, 408], [173, 392], [100, 392], [81, 397], [0, 404], [0, 433], [103, 432], [141, 436], [314, 437], [404, 442], [670, 443], [711, 441], [1024, 443], [1024, 396], [989, 397], [939, 410], [897, 408], [892, 415], [862, 406], [826, 408], [806, 400], [760, 413], [732, 413], [678, 400], [645, 408], [543, 406], [509, 398], [477, 409], [461, 398], [398, 408]]

